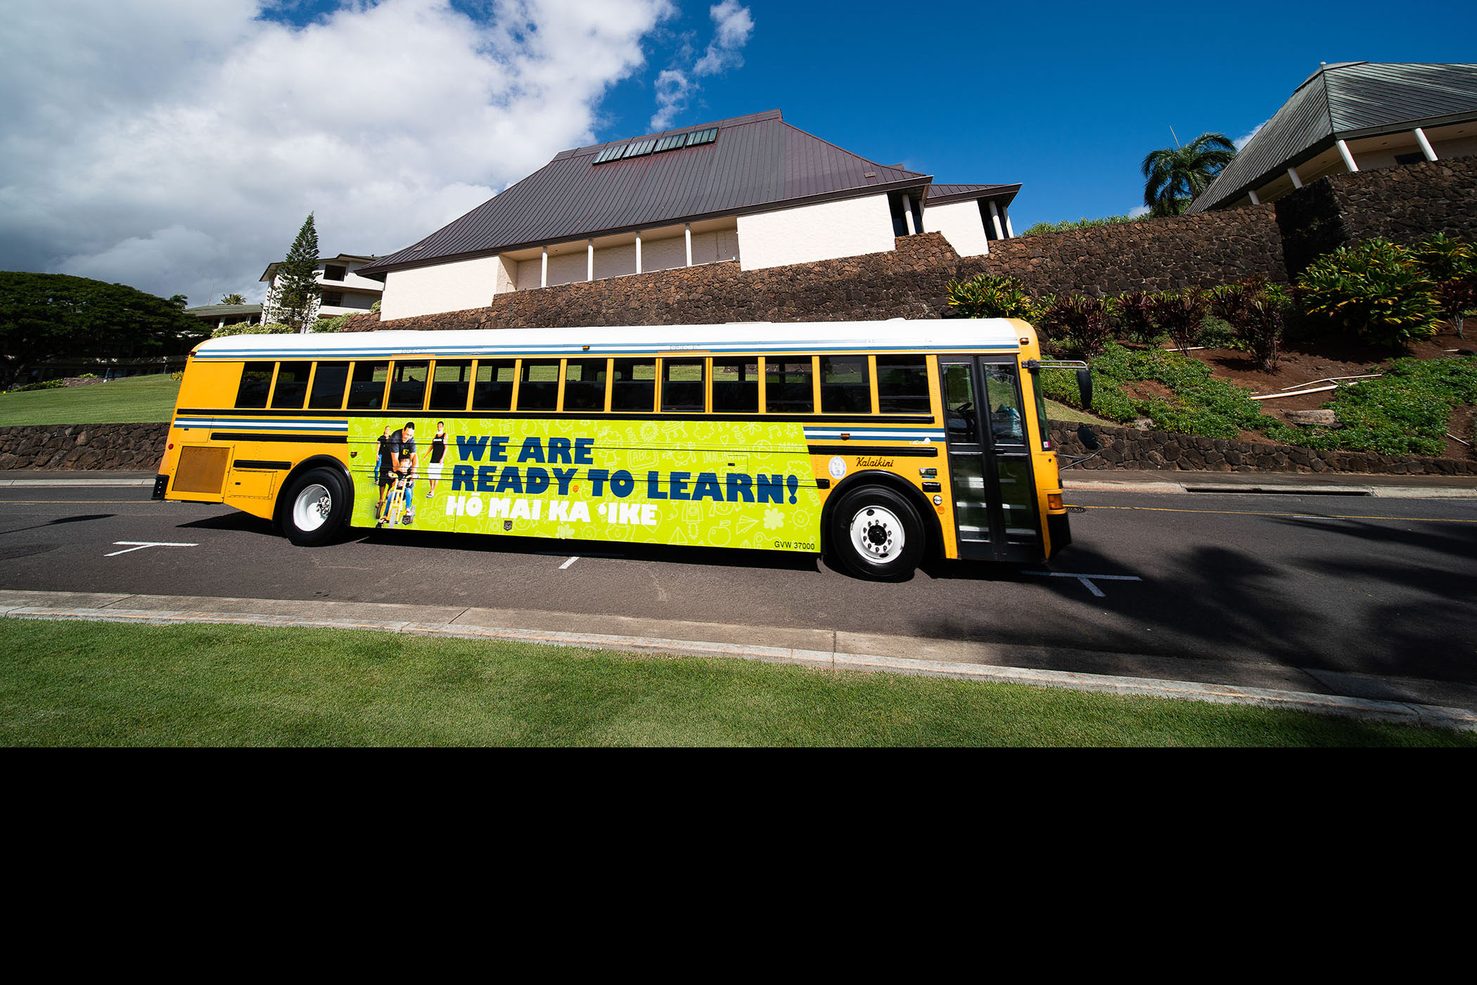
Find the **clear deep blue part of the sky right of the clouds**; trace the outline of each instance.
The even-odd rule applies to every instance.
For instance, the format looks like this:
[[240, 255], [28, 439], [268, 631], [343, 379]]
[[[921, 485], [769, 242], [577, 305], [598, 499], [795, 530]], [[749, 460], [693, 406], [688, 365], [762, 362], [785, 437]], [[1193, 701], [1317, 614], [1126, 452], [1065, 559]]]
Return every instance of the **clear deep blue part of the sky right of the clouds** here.
[[[1477, 56], [1477, 3], [1459, 1], [929, 3], [908, 24], [898, 3], [749, 6], [743, 66], [678, 123], [777, 106], [939, 183], [1021, 182], [1016, 230], [1142, 205], [1139, 164], [1173, 146], [1170, 127], [1245, 136], [1319, 62]], [[684, 9], [684, 27], [702, 34], [702, 12]], [[601, 139], [645, 128], [651, 74], [614, 87]]]

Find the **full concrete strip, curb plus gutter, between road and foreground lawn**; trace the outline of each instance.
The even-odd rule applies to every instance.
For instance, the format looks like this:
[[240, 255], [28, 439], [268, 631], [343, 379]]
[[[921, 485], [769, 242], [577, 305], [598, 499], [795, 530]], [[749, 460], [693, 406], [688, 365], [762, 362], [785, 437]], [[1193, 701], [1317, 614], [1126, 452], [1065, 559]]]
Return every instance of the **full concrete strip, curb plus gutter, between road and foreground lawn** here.
[[[0, 617], [118, 623], [232, 623], [505, 639], [666, 656], [734, 657], [827, 670], [883, 670], [1106, 694], [1284, 707], [1477, 731], [1477, 687], [1284, 665], [1007, 647], [959, 639], [464, 608], [182, 595], [0, 589]], [[1161, 676], [1173, 673], [1176, 676]], [[1199, 679], [1183, 679], [1186, 673]]]

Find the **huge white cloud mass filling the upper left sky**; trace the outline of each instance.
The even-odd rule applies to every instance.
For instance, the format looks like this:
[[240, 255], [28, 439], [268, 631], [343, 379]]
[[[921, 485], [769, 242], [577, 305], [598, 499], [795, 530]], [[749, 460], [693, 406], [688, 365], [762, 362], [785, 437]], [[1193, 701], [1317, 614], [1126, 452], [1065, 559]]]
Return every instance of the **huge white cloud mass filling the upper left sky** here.
[[0, 269], [192, 304], [316, 213], [326, 254], [399, 250], [563, 148], [644, 64], [669, 0], [74, 0], [0, 19]]

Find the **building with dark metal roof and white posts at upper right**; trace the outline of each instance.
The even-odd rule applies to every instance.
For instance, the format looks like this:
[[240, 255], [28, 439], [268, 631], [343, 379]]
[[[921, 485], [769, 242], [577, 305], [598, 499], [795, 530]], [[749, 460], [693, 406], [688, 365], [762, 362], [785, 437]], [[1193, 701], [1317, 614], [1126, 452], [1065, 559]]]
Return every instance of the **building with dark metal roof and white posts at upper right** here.
[[1325, 174], [1477, 154], [1477, 65], [1320, 65], [1189, 207], [1275, 201]]

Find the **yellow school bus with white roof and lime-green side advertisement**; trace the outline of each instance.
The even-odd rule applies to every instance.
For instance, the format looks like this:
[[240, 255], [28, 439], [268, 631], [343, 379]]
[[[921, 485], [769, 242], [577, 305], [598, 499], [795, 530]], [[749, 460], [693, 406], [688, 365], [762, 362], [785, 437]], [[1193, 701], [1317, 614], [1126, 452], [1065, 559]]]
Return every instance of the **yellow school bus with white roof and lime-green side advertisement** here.
[[1071, 540], [1043, 365], [1016, 319], [236, 335], [191, 353], [154, 498], [300, 545], [411, 527], [876, 579], [1040, 561]]

